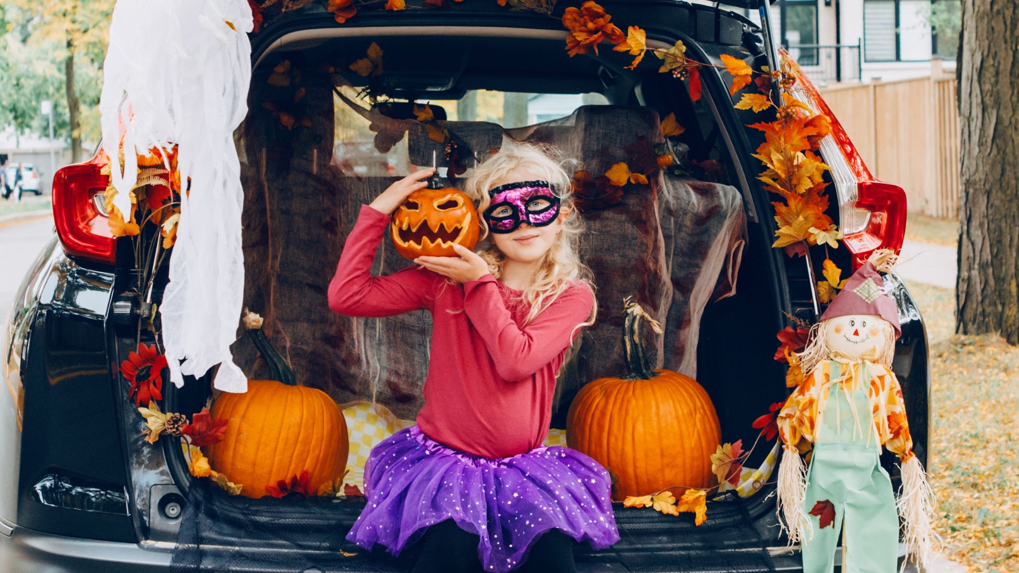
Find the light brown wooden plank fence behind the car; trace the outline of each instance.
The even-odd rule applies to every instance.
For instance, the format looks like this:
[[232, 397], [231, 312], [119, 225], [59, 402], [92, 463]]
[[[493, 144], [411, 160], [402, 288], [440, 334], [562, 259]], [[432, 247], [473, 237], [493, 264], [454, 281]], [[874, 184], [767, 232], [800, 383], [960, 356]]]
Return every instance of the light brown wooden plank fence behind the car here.
[[931, 75], [820, 89], [867, 166], [906, 190], [909, 210], [954, 218], [959, 208], [956, 79]]

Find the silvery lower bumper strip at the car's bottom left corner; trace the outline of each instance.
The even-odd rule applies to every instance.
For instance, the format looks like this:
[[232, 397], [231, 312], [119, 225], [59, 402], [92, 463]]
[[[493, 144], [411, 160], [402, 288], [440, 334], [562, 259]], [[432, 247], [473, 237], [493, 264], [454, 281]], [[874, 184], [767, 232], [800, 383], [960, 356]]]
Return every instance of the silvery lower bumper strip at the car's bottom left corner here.
[[9, 535], [0, 534], [0, 571], [4, 573], [128, 573], [170, 568], [172, 543], [142, 546], [12, 529]]

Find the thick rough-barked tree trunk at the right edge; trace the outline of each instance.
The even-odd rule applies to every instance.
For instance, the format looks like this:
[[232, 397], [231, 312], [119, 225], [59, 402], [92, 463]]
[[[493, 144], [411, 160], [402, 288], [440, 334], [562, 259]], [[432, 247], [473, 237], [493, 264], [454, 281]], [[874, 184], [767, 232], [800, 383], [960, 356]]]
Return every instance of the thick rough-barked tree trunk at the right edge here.
[[1019, 344], [1019, 1], [963, 0], [956, 331]]

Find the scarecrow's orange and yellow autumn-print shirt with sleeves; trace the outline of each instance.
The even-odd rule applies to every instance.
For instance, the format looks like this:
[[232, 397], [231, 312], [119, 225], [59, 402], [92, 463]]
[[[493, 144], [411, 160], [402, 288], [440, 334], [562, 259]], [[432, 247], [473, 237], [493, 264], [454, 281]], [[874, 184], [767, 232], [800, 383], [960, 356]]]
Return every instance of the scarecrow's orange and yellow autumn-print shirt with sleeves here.
[[[835, 364], [841, 366], [841, 374], [833, 380], [832, 367]], [[868, 379], [860, 379], [861, 371], [866, 372]], [[847, 390], [854, 390], [861, 383], [866, 384], [871, 419], [880, 444], [896, 453], [903, 462], [913, 456], [906, 405], [895, 373], [882, 364], [841, 359], [825, 360], [814, 366], [779, 412], [779, 435], [787, 449], [795, 448], [801, 453], [810, 450], [816, 436], [818, 415], [823, 412], [832, 384], [836, 383]]]

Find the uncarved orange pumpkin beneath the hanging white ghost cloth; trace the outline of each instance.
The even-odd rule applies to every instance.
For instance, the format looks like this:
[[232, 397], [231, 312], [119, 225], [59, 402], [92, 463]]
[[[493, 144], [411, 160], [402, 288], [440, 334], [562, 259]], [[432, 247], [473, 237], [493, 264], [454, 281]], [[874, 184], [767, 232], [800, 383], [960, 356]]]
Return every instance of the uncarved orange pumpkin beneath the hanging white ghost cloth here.
[[245, 324], [276, 379], [249, 380], [247, 393], [216, 399], [212, 417], [228, 422], [222, 441], [208, 448], [210, 465], [243, 484], [240, 494], [249, 498], [261, 498], [266, 485], [308, 470], [314, 494], [346, 469], [343, 413], [324, 392], [297, 385], [293, 371], [262, 331], [260, 316], [248, 313]]

